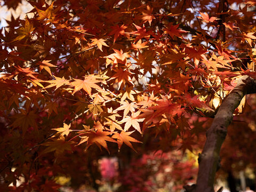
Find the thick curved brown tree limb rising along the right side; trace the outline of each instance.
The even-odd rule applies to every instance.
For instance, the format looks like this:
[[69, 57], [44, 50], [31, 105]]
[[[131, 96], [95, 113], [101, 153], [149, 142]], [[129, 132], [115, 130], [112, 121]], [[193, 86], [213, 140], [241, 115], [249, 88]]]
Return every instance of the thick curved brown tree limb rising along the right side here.
[[210, 129], [206, 132], [204, 149], [198, 157], [197, 182], [191, 191], [214, 192], [214, 178], [220, 167], [220, 148], [226, 138], [227, 127], [232, 122], [233, 113], [243, 97], [251, 93], [256, 93], [256, 80], [245, 75], [223, 100]]

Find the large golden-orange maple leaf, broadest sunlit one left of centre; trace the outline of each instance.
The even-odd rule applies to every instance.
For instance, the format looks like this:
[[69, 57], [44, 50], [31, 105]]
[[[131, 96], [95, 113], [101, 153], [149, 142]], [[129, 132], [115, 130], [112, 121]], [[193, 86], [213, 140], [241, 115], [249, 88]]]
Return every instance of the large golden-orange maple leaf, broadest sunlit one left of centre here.
[[71, 85], [74, 86], [73, 94], [83, 89], [84, 91], [86, 91], [86, 93], [88, 93], [91, 96], [92, 88], [102, 90], [99, 85], [95, 84], [99, 82], [101, 81], [97, 80], [97, 76], [93, 76], [93, 75], [85, 76], [84, 80], [74, 79], [74, 82], [71, 82]]

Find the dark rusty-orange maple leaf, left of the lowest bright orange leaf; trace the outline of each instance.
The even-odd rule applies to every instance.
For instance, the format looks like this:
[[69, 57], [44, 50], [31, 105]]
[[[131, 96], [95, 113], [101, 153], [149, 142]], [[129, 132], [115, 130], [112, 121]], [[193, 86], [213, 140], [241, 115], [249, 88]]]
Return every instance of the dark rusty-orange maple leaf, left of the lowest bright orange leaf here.
[[111, 134], [111, 132], [102, 131], [102, 130], [98, 130], [97, 132], [89, 130], [89, 131], [85, 132], [84, 136], [88, 137], [85, 150], [87, 150], [91, 145], [93, 145], [93, 143], [95, 143], [100, 149], [102, 146], [109, 153], [106, 141], [116, 142], [114, 139], [108, 137], [108, 135], [110, 135], [110, 134]]

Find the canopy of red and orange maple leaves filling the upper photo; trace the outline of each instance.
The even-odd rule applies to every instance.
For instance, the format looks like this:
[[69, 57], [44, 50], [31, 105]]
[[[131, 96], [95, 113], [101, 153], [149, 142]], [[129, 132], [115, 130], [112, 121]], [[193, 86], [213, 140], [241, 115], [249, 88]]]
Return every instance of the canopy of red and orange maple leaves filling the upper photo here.
[[4, 190], [22, 175], [14, 190], [55, 191], [106, 151], [202, 147], [206, 118], [256, 75], [254, 1], [27, 2], [0, 35]]

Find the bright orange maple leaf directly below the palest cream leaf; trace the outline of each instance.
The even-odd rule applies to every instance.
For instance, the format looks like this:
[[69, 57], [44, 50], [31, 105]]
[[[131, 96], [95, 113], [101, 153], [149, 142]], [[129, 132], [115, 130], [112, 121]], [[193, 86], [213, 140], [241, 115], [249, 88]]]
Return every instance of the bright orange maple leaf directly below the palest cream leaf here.
[[124, 132], [121, 131], [121, 133], [117, 133], [114, 132], [114, 135], [112, 136], [112, 138], [117, 139], [117, 145], [118, 145], [118, 149], [120, 150], [123, 143], [125, 143], [128, 147], [132, 148], [134, 151], [136, 151], [131, 142], [138, 142], [138, 143], [142, 143], [140, 141], [138, 141], [137, 139], [134, 139], [132, 137], [130, 137], [129, 135], [132, 134], [134, 131], [130, 131], [130, 132]]

